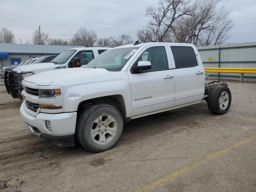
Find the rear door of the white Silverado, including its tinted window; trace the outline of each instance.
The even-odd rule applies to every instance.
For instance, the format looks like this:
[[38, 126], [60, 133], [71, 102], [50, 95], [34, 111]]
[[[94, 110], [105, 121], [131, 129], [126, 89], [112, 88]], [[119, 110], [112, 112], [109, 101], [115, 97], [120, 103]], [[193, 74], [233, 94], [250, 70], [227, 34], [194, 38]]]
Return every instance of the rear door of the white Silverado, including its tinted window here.
[[170, 46], [175, 63], [175, 106], [201, 101], [204, 97], [204, 67], [191, 45]]

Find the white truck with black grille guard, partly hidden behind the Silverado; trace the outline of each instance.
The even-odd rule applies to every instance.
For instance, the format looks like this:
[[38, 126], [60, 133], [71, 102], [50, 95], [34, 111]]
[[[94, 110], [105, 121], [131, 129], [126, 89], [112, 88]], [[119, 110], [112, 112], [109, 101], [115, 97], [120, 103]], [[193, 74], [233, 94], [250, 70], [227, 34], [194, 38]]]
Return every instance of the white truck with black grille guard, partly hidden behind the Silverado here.
[[[12, 71], [6, 71], [4, 82], [6, 90], [13, 98], [22, 100], [21, 91], [23, 86], [22, 80], [33, 74], [46, 72], [54, 69], [72, 68], [88, 64], [94, 57], [108, 50], [105, 47], [84, 47], [72, 48], [61, 52], [51, 62], [36, 63], [33, 65], [22, 65], [14, 68]], [[40, 58], [39, 58], [40, 59]]]

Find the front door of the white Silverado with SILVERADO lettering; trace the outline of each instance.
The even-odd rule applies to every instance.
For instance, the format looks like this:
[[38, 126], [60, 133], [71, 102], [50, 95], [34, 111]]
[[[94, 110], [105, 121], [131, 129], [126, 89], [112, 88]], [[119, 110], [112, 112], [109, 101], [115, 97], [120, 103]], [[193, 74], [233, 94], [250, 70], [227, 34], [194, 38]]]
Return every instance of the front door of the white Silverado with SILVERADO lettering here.
[[[163, 44], [146, 46], [128, 68], [132, 97], [132, 116], [154, 113], [174, 106], [174, 70], [170, 69], [170, 54]], [[151, 69], [135, 73], [137, 61], [150, 61]]]

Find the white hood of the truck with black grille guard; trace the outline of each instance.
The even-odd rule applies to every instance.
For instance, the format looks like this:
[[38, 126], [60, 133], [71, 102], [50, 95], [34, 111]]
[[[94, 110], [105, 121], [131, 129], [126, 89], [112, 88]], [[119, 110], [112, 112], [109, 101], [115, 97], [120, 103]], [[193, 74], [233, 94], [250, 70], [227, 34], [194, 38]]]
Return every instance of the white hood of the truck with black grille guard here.
[[53, 70], [54, 68], [60, 65], [54, 63], [37, 63], [37, 64], [30, 64], [19, 66], [13, 69], [16, 72], [30, 72], [30, 71], [43, 71], [43, 70]]

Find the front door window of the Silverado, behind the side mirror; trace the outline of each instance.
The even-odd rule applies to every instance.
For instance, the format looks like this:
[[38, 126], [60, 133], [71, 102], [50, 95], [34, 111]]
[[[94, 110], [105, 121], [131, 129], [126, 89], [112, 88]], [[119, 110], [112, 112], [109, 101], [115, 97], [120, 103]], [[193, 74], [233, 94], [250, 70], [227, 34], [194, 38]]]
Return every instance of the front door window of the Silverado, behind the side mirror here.
[[160, 71], [169, 68], [167, 55], [164, 46], [160, 47], [150, 47], [146, 49], [138, 58], [138, 61], [150, 61], [151, 69], [145, 70], [149, 71]]

